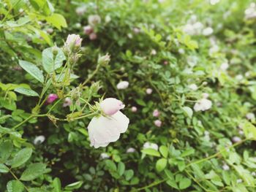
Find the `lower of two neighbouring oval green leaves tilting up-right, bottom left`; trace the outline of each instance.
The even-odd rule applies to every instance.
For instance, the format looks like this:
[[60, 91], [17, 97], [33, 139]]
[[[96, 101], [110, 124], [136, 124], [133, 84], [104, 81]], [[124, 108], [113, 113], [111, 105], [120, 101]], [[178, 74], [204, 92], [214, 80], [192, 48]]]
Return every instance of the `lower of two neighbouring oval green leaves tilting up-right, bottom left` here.
[[37, 177], [44, 174], [46, 165], [42, 163], [31, 164], [29, 167], [21, 174], [20, 180], [29, 181], [34, 180]]

